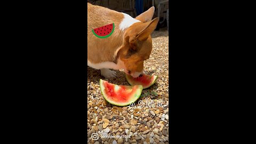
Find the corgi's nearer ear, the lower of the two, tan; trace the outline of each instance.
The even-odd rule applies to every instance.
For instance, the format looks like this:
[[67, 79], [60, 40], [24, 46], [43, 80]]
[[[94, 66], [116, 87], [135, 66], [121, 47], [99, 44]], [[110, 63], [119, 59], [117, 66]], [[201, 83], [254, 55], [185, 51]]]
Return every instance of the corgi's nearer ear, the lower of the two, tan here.
[[132, 50], [136, 50], [138, 41], [145, 41], [149, 35], [155, 30], [159, 18], [155, 18], [149, 22], [134, 23], [134, 26], [126, 30], [125, 41], [129, 43]]

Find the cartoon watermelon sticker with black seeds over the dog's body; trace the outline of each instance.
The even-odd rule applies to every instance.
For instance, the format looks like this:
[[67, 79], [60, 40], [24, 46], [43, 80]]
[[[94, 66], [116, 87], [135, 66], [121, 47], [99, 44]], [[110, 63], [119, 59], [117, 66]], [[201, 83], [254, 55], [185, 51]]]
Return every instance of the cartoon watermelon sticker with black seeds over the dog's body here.
[[107, 38], [113, 34], [114, 29], [115, 29], [115, 24], [110, 23], [109, 25], [92, 29], [92, 33], [99, 38]]

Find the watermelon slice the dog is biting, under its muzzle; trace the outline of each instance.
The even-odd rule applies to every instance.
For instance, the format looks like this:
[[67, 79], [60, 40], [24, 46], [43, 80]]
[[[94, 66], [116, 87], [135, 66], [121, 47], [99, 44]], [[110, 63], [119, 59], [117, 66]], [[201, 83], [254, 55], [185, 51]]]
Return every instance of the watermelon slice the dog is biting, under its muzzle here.
[[137, 78], [125, 74], [125, 77], [130, 85], [142, 85], [143, 89], [147, 89], [148, 87], [153, 85], [156, 82], [157, 78], [157, 76], [151, 76], [146, 74], [143, 74], [142, 77]]

